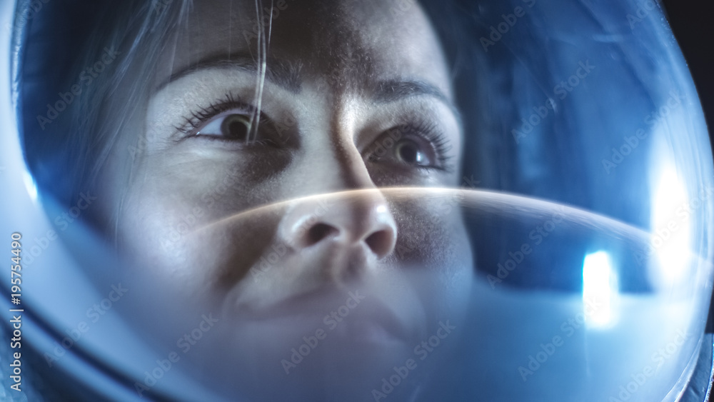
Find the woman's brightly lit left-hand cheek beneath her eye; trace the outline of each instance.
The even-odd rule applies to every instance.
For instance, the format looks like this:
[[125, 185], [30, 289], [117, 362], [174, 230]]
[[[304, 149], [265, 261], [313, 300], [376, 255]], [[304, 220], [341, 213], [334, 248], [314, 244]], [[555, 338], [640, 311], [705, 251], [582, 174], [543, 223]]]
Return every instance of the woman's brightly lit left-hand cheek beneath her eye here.
[[271, 198], [270, 186], [246, 184], [236, 169], [165, 166], [176, 164], [154, 161], [135, 172], [143, 180], [126, 191], [121, 251], [138, 271], [159, 273], [192, 295], [218, 296], [246, 275], [274, 236], [275, 213], [250, 212]]

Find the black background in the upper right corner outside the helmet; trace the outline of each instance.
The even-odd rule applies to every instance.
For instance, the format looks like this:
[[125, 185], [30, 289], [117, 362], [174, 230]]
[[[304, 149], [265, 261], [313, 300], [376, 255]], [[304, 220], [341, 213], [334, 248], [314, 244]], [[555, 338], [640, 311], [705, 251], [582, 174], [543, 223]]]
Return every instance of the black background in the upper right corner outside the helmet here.
[[714, 142], [714, 9], [711, 1], [663, 0], [675, 38], [679, 42], [697, 86]]

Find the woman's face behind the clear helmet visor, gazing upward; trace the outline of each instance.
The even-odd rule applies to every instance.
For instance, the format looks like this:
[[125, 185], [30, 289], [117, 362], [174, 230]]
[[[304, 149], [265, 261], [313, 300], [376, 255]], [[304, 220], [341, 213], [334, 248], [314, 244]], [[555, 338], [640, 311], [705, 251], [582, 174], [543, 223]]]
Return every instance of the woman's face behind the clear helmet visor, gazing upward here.
[[[298, 311], [321, 326], [325, 303], [360, 291], [368, 307], [343, 331], [411, 350], [456, 320], [444, 311], [473, 274], [458, 201], [376, 190], [458, 185], [441, 46], [410, 1], [281, 0], [272, 15], [263, 52], [253, 1], [196, 1], [159, 55], [146, 146], [107, 206], [121, 248], [266, 326]], [[398, 324], [366, 324], [375, 311]]]

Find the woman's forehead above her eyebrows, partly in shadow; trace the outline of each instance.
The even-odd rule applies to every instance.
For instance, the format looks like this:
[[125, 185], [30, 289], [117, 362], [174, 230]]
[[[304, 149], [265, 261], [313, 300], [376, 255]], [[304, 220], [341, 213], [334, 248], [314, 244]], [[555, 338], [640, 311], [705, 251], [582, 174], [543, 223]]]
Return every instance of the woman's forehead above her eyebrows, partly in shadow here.
[[412, 79], [451, 97], [441, 46], [416, 0], [279, 0], [259, 7], [247, 0], [196, 1], [165, 48], [157, 79], [206, 60], [248, 56], [257, 63], [262, 36], [269, 68], [288, 71], [283, 76], [296, 82], [332, 76], [342, 87], [358, 88]]

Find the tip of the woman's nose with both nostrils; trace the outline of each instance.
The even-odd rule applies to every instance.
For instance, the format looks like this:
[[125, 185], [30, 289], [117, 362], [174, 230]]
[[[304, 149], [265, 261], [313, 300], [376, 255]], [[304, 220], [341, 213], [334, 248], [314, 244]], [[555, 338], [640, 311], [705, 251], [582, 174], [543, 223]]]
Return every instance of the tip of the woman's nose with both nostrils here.
[[330, 244], [343, 251], [363, 248], [378, 259], [392, 253], [397, 238], [394, 217], [377, 189], [302, 199], [289, 208], [279, 232], [298, 252]]

